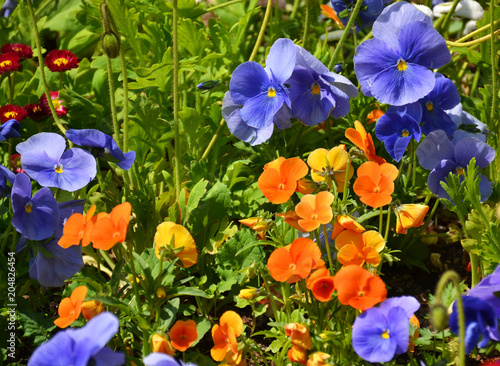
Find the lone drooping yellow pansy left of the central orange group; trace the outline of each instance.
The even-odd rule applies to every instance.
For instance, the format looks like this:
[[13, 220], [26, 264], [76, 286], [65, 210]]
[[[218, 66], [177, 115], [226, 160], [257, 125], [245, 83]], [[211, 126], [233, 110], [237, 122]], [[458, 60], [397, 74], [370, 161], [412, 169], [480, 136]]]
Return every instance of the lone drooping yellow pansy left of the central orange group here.
[[[170, 247], [172, 238], [174, 239], [173, 248]], [[178, 257], [185, 268], [191, 267], [198, 261], [196, 243], [189, 231], [182, 225], [170, 221], [162, 222], [156, 228], [154, 241], [155, 253], [158, 259], [161, 258], [160, 250], [166, 249], [167, 252], [171, 252], [172, 255]], [[166, 257], [168, 257], [168, 253]]]

